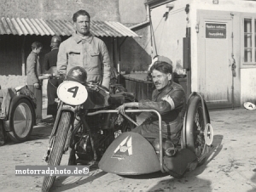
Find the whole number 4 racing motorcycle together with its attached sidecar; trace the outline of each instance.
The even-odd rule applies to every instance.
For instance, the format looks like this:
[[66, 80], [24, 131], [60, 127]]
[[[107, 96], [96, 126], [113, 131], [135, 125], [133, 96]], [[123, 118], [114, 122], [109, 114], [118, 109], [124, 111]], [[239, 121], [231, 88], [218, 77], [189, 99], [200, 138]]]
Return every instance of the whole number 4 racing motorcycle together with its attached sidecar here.
[[[189, 96], [180, 142], [174, 146], [171, 140], [162, 137], [158, 111], [127, 109], [125, 114], [118, 114], [115, 109], [119, 105], [135, 101], [134, 95], [119, 92], [118, 87], [111, 94], [94, 84], [84, 87], [79, 82], [61, 83], [57, 91], [58, 112], [45, 155], [49, 166], [60, 165], [68, 147], [68, 165], [99, 161], [102, 171], [118, 175], [160, 171], [182, 178], [185, 172], [207, 160], [213, 149], [213, 128], [200, 93]], [[137, 126], [136, 113], [142, 112], [158, 116], [159, 138], [130, 132]], [[75, 120], [78, 123], [73, 126]], [[54, 181], [55, 176], [45, 176], [42, 191], [48, 191]]]

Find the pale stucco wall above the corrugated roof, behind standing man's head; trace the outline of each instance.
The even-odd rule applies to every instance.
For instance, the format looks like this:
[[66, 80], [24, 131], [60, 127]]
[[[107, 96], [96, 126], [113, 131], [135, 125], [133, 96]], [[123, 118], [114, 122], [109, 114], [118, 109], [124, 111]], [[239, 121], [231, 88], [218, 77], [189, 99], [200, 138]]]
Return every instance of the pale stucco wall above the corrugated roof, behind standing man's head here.
[[79, 9], [93, 20], [119, 21], [119, 0], [1, 0], [0, 13], [5, 17], [72, 20]]

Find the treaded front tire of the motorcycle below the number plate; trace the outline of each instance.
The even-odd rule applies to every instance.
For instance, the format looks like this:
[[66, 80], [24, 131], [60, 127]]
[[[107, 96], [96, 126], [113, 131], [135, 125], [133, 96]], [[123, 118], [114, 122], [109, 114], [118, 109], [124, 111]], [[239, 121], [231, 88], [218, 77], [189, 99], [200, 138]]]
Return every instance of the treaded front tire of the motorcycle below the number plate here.
[[[49, 155], [48, 166], [59, 166], [63, 155], [64, 146], [67, 139], [67, 133], [72, 126], [71, 112], [63, 111], [59, 121], [55, 142], [52, 146], [51, 154]], [[42, 191], [48, 192], [55, 182], [56, 176], [44, 176]]]

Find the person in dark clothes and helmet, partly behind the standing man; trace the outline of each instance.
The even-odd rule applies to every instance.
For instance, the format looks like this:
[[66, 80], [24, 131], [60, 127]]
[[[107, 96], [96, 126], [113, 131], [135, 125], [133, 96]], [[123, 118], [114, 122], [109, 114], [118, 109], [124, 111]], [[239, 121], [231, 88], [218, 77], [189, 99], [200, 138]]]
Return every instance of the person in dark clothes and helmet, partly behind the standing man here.
[[44, 70], [49, 71], [51, 76], [49, 76], [48, 84], [47, 84], [47, 98], [48, 98], [48, 106], [47, 106], [47, 115], [52, 115], [55, 120], [55, 116], [57, 113], [57, 104], [55, 103], [55, 99], [57, 96], [57, 88], [63, 81], [63, 78], [57, 75], [57, 57], [59, 52], [59, 47], [61, 44], [61, 37], [54, 36], [50, 41], [51, 51], [44, 56]]

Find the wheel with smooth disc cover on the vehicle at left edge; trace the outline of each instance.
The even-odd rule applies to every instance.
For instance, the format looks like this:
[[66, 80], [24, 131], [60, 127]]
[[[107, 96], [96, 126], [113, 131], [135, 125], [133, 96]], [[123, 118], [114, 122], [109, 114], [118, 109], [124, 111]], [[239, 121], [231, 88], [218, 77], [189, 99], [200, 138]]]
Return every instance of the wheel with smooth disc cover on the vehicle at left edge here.
[[10, 109], [9, 138], [15, 143], [24, 142], [32, 133], [36, 114], [32, 103], [28, 99], [19, 99]]

